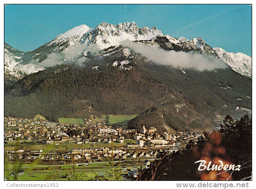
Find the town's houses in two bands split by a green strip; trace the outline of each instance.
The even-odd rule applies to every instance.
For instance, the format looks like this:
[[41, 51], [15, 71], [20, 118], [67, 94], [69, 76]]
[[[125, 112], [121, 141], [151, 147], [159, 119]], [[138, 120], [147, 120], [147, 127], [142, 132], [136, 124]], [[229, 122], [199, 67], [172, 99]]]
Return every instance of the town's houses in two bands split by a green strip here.
[[[196, 132], [175, 132], [159, 134], [154, 127], [146, 129], [144, 125], [139, 130], [127, 128], [112, 128], [105, 123], [104, 118], [90, 116], [84, 119], [85, 125], [69, 123], [49, 123], [43, 117], [35, 119], [4, 118], [4, 137], [9, 140], [35, 140], [37, 142], [51, 143], [124, 143], [132, 139], [132, 143], [123, 144], [122, 149], [73, 149], [70, 152], [60, 152], [42, 155], [42, 152], [14, 152], [6, 151], [9, 159], [126, 159], [126, 158], [153, 158], [157, 149], [175, 152], [186, 146], [189, 140], [196, 140], [201, 134]], [[73, 136], [68, 131], [73, 132]], [[70, 134], [70, 136], [68, 134]], [[135, 143], [134, 143], [135, 141]], [[82, 146], [82, 145], [81, 145]], [[116, 147], [117, 148], [117, 147]], [[135, 150], [136, 149], [136, 150]], [[139, 152], [138, 152], [139, 149]], [[154, 149], [154, 150], [153, 150]], [[22, 149], [21, 149], [22, 150]], [[129, 152], [130, 151], [130, 152]], [[133, 151], [131, 153], [131, 151]]]

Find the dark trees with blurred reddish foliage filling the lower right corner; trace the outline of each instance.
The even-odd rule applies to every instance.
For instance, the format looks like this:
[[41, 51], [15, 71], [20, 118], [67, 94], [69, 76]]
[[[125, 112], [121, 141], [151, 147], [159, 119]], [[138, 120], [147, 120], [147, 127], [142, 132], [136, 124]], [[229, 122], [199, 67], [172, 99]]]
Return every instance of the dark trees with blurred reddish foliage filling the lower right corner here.
[[[199, 173], [196, 161], [216, 159], [241, 165], [240, 171], [220, 170]], [[222, 171], [222, 172], [221, 172]], [[247, 114], [234, 121], [226, 116], [218, 132], [203, 133], [196, 143], [190, 140], [186, 149], [164, 155], [142, 171], [137, 180], [250, 180], [252, 173], [252, 118]]]

